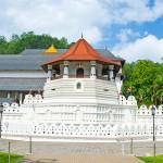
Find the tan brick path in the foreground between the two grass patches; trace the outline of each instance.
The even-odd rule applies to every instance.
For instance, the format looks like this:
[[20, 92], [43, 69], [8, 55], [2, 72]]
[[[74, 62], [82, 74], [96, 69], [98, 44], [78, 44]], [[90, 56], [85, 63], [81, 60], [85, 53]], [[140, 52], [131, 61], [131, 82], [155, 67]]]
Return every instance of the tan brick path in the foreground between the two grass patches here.
[[32, 154], [20, 163], [142, 163], [126, 154]]

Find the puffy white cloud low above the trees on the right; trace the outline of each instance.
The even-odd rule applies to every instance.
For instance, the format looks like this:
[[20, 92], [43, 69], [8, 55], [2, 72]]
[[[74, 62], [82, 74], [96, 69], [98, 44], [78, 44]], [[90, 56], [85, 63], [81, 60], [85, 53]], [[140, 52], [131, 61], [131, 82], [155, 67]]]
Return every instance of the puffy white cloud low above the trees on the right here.
[[158, 39], [153, 35], [148, 35], [141, 39], [137, 39], [135, 42], [118, 43], [112, 52], [122, 57], [127, 62], [137, 60], [151, 60], [154, 62], [161, 62], [163, 58], [163, 39]]

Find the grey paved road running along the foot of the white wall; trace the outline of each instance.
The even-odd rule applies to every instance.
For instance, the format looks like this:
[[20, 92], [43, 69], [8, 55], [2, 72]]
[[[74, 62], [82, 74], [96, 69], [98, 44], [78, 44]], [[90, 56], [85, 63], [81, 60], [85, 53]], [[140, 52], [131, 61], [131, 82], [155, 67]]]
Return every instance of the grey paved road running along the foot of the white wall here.
[[[17, 154], [135, 154], [153, 155], [153, 142], [51, 142], [34, 141], [32, 148], [29, 141], [0, 139], [0, 152], [9, 151]], [[133, 147], [133, 148], [131, 148]], [[156, 154], [163, 153], [163, 141], [156, 142]]]

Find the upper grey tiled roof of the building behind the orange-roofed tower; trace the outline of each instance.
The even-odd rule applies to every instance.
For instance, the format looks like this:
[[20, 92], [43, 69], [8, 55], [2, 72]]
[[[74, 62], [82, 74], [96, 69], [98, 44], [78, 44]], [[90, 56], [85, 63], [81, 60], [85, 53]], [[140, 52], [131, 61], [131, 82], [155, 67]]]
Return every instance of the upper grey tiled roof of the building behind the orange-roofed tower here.
[[[67, 49], [57, 49], [59, 54], [45, 55], [46, 49], [26, 49], [20, 54], [0, 54], [0, 71], [42, 71], [40, 63], [62, 55]], [[114, 57], [108, 49], [96, 49], [102, 57], [122, 60]]]

